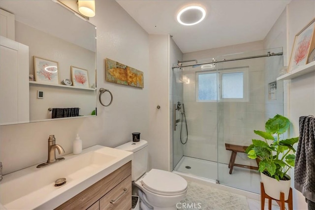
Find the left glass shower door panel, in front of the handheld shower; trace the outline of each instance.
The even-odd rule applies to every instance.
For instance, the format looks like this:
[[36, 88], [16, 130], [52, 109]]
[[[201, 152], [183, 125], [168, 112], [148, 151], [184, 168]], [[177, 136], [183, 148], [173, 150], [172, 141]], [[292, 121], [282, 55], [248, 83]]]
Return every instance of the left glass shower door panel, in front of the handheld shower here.
[[217, 80], [216, 65], [173, 69], [174, 170], [209, 180], [218, 179]]

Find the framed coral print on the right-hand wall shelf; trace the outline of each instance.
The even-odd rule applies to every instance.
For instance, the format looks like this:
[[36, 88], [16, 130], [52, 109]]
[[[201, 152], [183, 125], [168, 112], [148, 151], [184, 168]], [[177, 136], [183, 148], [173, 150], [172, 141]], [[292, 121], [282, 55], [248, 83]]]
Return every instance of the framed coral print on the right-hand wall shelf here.
[[315, 47], [315, 18], [296, 34], [290, 56], [288, 72], [307, 64], [308, 57]]

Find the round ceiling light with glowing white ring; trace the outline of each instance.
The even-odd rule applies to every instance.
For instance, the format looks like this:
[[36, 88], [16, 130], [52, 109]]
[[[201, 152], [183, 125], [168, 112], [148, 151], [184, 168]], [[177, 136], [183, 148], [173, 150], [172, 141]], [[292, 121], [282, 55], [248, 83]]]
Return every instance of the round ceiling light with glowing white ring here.
[[177, 14], [177, 21], [185, 26], [200, 23], [206, 17], [206, 10], [202, 6], [190, 5]]

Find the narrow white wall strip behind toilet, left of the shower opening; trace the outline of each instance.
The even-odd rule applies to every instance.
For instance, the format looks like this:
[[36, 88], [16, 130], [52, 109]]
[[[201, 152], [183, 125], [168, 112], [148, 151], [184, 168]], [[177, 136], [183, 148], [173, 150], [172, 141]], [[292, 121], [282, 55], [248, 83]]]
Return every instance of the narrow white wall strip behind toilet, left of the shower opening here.
[[[149, 35], [149, 168], [170, 169], [169, 35]], [[160, 106], [160, 109], [157, 106]]]

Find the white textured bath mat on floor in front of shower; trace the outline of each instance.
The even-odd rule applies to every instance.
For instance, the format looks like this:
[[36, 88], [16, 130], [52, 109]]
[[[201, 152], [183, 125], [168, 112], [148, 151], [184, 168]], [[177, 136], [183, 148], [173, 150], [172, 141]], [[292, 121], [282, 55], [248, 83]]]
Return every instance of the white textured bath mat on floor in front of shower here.
[[211, 186], [188, 181], [184, 200], [177, 204], [178, 210], [249, 210], [247, 198]]

